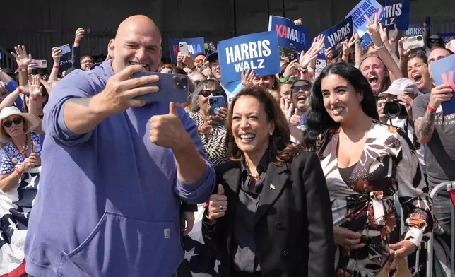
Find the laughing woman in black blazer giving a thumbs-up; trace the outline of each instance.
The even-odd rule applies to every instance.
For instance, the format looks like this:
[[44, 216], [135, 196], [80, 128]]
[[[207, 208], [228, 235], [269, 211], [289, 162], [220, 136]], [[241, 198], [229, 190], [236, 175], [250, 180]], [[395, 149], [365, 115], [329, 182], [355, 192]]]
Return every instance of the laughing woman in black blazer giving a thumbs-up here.
[[202, 227], [220, 276], [335, 276], [331, 203], [317, 155], [290, 142], [278, 103], [258, 86], [232, 100], [226, 129], [231, 161], [215, 167], [218, 191]]

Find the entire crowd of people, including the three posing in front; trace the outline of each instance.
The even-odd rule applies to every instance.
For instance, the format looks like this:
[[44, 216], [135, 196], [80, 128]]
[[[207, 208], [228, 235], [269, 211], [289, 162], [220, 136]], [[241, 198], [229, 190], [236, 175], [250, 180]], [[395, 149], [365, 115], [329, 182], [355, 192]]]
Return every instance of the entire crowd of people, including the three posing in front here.
[[[14, 47], [18, 70], [0, 71], [0, 275], [425, 276], [410, 260], [432, 233], [446, 249], [434, 276], [450, 276], [452, 204], [430, 191], [455, 179], [453, 90], [431, 65], [455, 42], [408, 51], [377, 13], [367, 30], [370, 47], [354, 33], [317, 76], [324, 35], [235, 88], [218, 52], [162, 64], [146, 16], [126, 18], [98, 64], [76, 30], [65, 72], [58, 47], [49, 74]], [[187, 102], [135, 99], [166, 92], [141, 71], [188, 76]], [[203, 266], [182, 262], [190, 232]]]

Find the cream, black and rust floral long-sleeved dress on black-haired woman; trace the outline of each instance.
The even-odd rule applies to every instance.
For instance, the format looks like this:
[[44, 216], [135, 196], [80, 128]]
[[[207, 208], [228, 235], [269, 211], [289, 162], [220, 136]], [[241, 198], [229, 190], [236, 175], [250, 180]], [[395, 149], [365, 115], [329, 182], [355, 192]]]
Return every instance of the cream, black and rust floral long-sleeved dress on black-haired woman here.
[[[386, 263], [386, 245], [410, 240], [420, 245], [432, 230], [432, 201], [418, 156], [403, 131], [373, 122], [360, 160], [348, 177], [338, 169], [339, 129], [322, 136], [318, 155], [332, 203], [333, 225], [362, 232], [369, 243], [358, 250], [337, 246], [337, 276], [374, 276]], [[394, 194], [403, 207], [406, 231], [398, 225]]]

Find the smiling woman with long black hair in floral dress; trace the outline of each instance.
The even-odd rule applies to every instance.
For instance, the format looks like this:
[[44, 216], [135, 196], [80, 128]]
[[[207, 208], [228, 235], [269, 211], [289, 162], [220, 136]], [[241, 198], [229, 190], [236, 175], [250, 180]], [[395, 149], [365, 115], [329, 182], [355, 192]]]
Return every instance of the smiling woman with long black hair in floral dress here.
[[[406, 134], [377, 122], [362, 73], [326, 67], [314, 83], [304, 142], [317, 151], [331, 196], [338, 276], [406, 273], [404, 258], [432, 230], [432, 201]], [[403, 207], [401, 234], [394, 194]], [[409, 274], [409, 271], [407, 271]]]

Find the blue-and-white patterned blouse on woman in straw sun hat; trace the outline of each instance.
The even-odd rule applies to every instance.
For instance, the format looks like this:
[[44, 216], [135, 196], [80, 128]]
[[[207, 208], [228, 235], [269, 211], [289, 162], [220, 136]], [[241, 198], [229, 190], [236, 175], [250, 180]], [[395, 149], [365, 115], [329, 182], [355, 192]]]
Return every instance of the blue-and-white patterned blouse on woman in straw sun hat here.
[[[35, 142], [35, 153], [41, 157], [40, 135], [31, 132], [30, 136], [32, 141]], [[0, 149], [0, 159], [0, 174], [10, 174], [16, 167], [22, 165], [25, 160], [24, 156], [16, 151], [12, 141], [6, 143], [6, 146]]]

